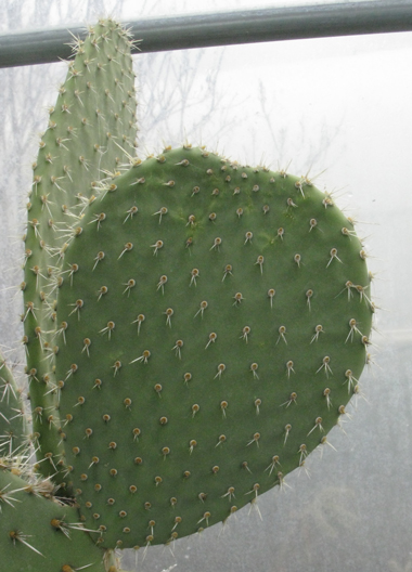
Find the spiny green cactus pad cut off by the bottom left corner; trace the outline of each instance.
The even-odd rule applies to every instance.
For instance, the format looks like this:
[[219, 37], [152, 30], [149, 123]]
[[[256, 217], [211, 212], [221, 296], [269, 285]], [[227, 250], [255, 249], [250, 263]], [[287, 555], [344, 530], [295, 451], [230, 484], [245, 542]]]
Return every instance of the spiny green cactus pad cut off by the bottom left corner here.
[[[50, 499], [50, 481], [27, 482], [0, 459], [0, 545], [8, 572], [104, 572], [103, 550], [93, 545], [77, 508]], [[98, 526], [94, 526], [96, 529]], [[99, 538], [100, 532], [93, 534]]]

